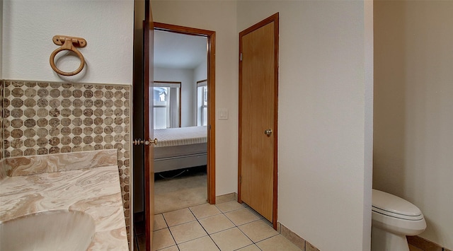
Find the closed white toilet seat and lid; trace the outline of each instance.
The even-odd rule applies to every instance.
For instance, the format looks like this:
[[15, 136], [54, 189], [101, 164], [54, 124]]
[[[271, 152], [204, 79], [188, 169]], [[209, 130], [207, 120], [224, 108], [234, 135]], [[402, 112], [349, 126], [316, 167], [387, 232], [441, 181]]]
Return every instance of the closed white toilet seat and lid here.
[[408, 221], [420, 221], [423, 214], [417, 206], [393, 194], [373, 189], [372, 211]]

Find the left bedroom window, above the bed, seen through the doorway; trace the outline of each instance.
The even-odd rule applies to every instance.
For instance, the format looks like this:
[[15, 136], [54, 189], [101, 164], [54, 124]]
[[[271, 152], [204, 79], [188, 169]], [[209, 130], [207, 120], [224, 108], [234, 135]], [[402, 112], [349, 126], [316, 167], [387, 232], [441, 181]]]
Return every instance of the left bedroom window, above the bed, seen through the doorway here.
[[180, 127], [180, 82], [154, 81], [154, 129]]

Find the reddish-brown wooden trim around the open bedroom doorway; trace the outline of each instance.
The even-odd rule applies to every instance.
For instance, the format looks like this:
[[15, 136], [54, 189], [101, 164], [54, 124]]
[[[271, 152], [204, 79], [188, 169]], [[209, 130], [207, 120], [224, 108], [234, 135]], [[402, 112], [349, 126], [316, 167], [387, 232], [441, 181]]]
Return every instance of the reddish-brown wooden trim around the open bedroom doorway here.
[[154, 22], [154, 30], [207, 37], [207, 202], [215, 204], [215, 31]]

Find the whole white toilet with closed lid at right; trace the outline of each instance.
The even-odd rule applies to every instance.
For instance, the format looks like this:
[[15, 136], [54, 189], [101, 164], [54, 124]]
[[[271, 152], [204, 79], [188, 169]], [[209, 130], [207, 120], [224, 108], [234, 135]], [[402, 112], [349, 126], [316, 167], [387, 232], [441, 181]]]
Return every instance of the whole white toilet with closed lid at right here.
[[372, 251], [409, 251], [406, 236], [423, 233], [425, 228], [425, 218], [417, 206], [373, 189]]

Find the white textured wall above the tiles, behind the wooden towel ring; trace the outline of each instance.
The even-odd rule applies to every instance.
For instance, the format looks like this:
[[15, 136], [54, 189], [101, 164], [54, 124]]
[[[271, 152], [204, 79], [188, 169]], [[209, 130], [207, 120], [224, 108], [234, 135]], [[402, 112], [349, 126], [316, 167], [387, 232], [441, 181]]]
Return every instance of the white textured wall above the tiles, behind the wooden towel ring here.
[[[132, 84], [134, 1], [5, 0], [3, 15], [3, 78]], [[51, 69], [54, 35], [86, 39], [81, 74], [60, 78]], [[71, 56], [57, 65], [74, 71], [79, 64]]]

